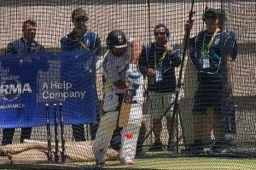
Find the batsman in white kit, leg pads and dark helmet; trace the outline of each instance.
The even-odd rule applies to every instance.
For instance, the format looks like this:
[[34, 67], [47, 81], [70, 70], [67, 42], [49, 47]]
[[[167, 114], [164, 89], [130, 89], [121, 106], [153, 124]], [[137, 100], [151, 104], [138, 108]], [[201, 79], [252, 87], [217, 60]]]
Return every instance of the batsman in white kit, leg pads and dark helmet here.
[[[137, 60], [142, 52], [139, 38], [128, 42], [124, 32], [111, 31], [107, 37], [108, 51], [104, 56], [103, 71], [106, 77], [104, 85], [104, 105], [100, 127], [92, 150], [96, 157], [96, 166], [104, 166], [114, 129], [119, 126], [119, 112], [127, 89], [134, 89], [131, 98], [131, 110], [127, 126], [121, 130], [121, 164], [133, 165], [136, 154], [137, 138], [143, 118], [143, 76], [137, 69]], [[128, 135], [129, 134], [129, 137]]]

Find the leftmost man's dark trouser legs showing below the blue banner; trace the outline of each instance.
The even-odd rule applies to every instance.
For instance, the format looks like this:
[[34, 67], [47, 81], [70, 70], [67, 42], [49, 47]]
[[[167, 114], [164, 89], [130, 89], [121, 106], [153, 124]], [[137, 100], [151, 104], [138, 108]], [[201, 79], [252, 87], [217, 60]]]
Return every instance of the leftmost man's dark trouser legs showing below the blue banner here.
[[[32, 127], [22, 127], [20, 135], [20, 143], [24, 142], [24, 139], [30, 139], [32, 133]], [[12, 144], [15, 134], [15, 128], [3, 128], [3, 140], [2, 145]]]

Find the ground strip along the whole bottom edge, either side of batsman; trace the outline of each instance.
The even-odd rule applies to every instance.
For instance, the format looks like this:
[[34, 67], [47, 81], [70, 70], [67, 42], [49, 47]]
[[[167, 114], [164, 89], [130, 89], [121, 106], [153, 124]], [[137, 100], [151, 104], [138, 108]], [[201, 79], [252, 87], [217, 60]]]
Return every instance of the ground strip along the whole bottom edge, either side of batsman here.
[[[160, 157], [136, 159], [133, 166], [107, 161], [104, 169], [155, 169], [155, 170], [255, 170], [256, 159], [225, 157]], [[95, 169], [95, 162], [38, 165], [5, 165], [1, 169]]]

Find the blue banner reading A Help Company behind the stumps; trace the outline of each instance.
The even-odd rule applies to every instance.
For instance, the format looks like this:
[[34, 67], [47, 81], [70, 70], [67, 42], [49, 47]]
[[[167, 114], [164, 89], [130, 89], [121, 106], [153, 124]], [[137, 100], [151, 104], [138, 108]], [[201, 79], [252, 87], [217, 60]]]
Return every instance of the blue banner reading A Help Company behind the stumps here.
[[65, 124], [96, 120], [95, 54], [82, 50], [0, 57], [0, 127], [45, 126], [45, 104], [51, 125], [54, 104], [62, 105]]

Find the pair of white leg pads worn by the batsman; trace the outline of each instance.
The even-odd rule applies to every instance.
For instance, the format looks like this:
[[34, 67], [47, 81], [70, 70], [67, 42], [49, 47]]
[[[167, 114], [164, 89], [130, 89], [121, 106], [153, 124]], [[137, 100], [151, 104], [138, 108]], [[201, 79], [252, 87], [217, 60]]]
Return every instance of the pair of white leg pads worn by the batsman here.
[[[105, 153], [108, 149], [113, 131], [117, 126], [119, 111], [109, 111], [102, 116], [100, 127], [96, 133], [96, 139], [92, 146], [94, 155], [100, 160], [105, 160]], [[136, 154], [137, 138], [143, 118], [143, 106], [140, 104], [131, 105], [131, 113], [127, 127], [121, 131], [121, 149], [119, 150], [120, 160], [133, 159]], [[132, 138], [127, 139], [125, 134], [132, 133]]]

